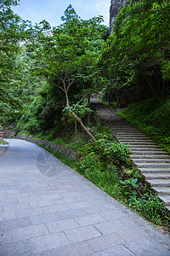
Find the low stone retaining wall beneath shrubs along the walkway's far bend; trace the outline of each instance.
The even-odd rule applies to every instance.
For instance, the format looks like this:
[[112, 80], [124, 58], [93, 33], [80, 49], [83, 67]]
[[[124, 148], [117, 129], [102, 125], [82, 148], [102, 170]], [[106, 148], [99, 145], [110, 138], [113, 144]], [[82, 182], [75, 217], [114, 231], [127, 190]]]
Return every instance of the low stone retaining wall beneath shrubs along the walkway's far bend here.
[[63, 154], [65, 154], [65, 156], [71, 158], [72, 160], [76, 160], [77, 159], [77, 150], [74, 150], [72, 148], [67, 148], [65, 146], [59, 145], [57, 143], [50, 143], [46, 140], [38, 140], [32, 137], [27, 137], [26, 135], [20, 134], [20, 135], [16, 135], [15, 136], [18, 139], [21, 140], [25, 140], [31, 143], [37, 143], [37, 144], [42, 144], [44, 147], [49, 147], [51, 149], [54, 149], [55, 152], [62, 152]]

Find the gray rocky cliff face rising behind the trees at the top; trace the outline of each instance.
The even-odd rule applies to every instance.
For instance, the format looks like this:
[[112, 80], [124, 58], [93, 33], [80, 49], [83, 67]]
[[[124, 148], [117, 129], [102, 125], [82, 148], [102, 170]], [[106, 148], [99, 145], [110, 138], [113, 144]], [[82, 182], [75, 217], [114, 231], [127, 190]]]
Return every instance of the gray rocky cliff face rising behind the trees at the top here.
[[114, 20], [116, 20], [116, 16], [118, 15], [122, 6], [127, 3], [128, 0], [111, 0], [111, 8], [110, 8], [110, 33], [113, 32]]

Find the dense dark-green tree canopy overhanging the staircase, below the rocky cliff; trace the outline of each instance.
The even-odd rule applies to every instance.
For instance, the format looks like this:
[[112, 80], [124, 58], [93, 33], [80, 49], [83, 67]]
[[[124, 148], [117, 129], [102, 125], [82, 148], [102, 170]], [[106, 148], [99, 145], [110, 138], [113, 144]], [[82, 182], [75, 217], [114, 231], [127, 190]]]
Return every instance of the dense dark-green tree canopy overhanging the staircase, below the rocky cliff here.
[[112, 90], [162, 99], [170, 84], [170, 3], [130, 0], [118, 15], [100, 66]]

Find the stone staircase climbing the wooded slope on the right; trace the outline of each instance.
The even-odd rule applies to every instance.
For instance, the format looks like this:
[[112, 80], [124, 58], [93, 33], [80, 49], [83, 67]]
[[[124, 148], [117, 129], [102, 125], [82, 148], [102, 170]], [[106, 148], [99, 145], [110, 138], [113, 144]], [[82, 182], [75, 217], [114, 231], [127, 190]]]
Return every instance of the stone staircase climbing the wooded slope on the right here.
[[133, 164], [170, 211], [170, 156], [142, 131], [128, 124], [98, 99], [93, 98], [91, 102], [101, 119], [113, 131], [117, 141], [130, 148]]

